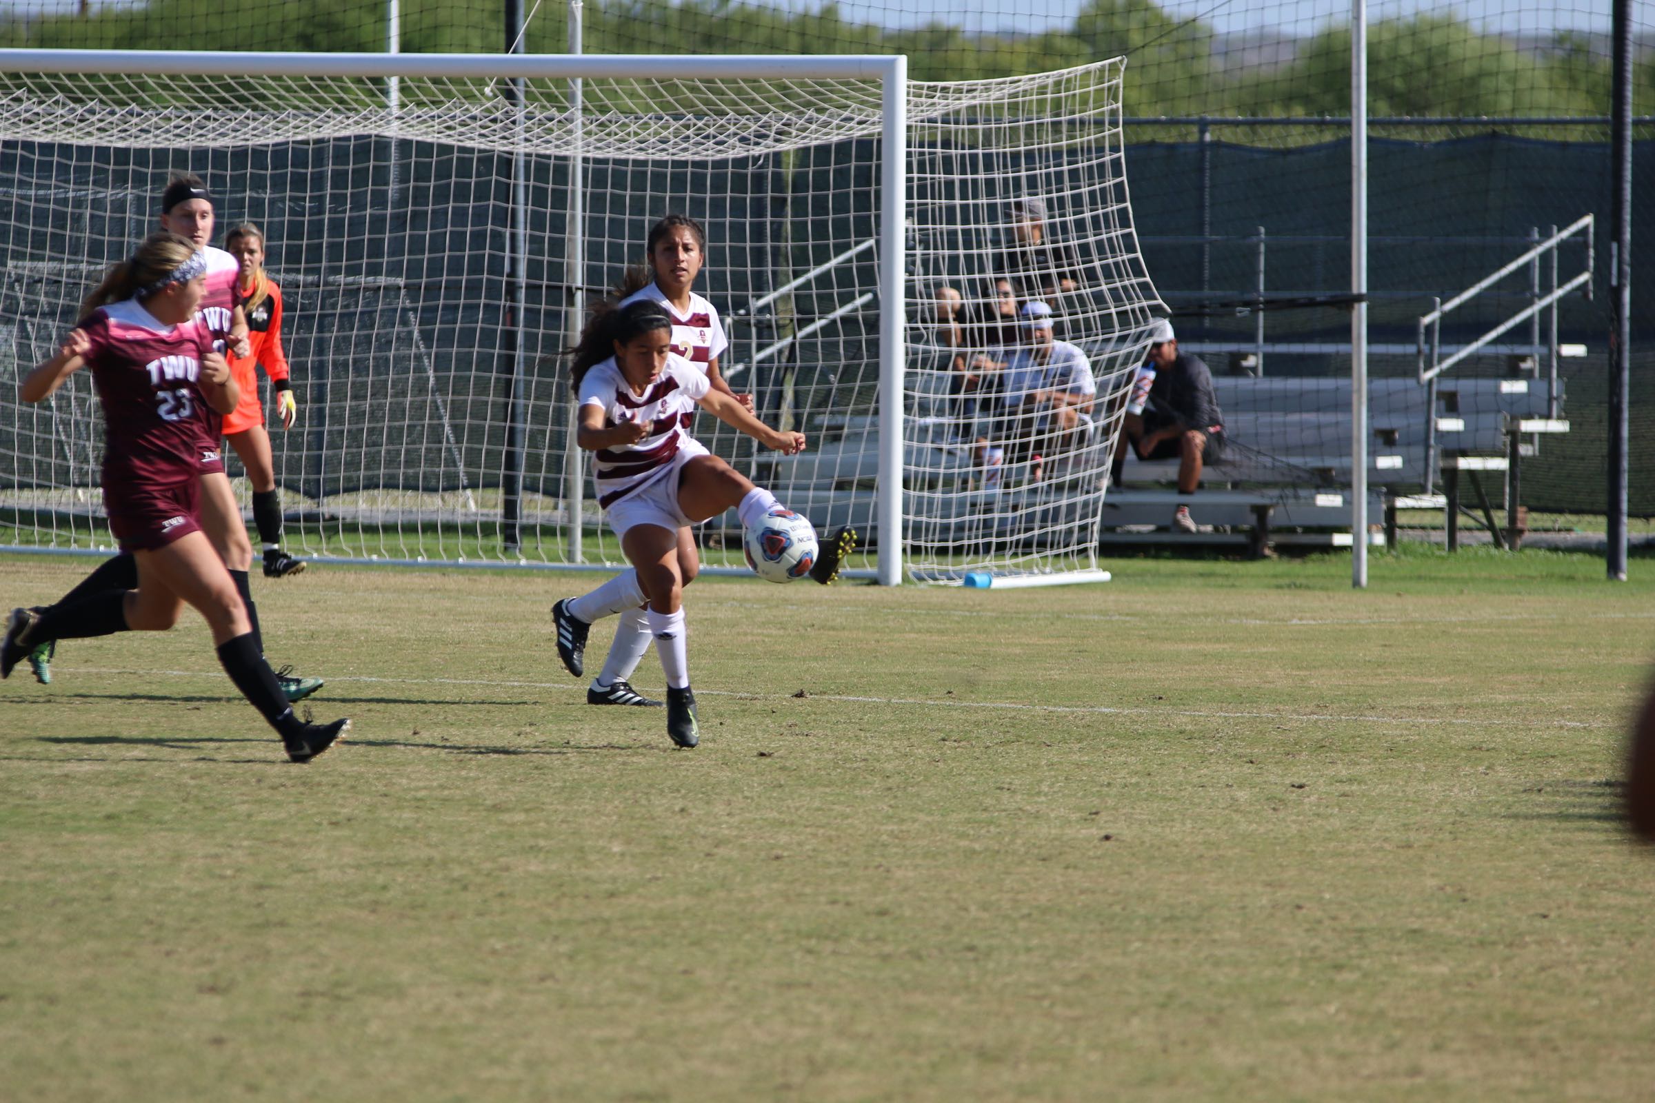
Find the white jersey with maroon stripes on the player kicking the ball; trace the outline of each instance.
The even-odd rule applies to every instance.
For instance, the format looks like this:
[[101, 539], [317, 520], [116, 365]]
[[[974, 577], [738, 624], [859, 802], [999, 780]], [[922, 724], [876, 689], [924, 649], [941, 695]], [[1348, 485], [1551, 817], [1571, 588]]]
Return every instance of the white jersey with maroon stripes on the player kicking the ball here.
[[644, 394], [636, 394], [609, 357], [592, 365], [581, 380], [581, 405], [604, 412], [604, 428], [626, 422], [644, 422], [649, 435], [632, 445], [599, 448], [594, 453], [597, 504], [611, 503], [649, 486], [672, 470], [680, 453], [705, 455], [707, 448], [685, 430], [685, 415], [695, 413], [695, 400], [712, 390], [707, 372], [675, 352], [667, 354], [667, 367]]

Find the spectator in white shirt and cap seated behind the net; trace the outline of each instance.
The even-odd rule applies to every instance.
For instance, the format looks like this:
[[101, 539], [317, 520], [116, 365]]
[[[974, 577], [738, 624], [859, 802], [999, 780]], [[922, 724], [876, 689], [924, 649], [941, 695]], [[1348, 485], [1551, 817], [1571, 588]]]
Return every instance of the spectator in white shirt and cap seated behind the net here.
[[1054, 337], [1051, 304], [1024, 303], [1018, 316], [1023, 334], [1001, 374], [995, 432], [1006, 458], [1021, 463], [1072, 448], [1091, 425], [1097, 380], [1086, 354]]

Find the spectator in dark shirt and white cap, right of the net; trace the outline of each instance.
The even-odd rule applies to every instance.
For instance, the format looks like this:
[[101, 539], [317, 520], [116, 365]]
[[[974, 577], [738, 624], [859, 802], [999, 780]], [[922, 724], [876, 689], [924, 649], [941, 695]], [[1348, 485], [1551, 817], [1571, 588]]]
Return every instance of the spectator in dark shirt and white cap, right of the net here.
[[[1114, 483], [1127, 460], [1127, 443], [1139, 460], [1178, 460], [1178, 494], [1193, 494], [1202, 465], [1223, 456], [1225, 417], [1213, 394], [1213, 374], [1200, 357], [1178, 352], [1170, 321], [1150, 331], [1149, 364], [1139, 369], [1115, 446]], [[1172, 528], [1195, 532], [1190, 506], [1178, 504]]]

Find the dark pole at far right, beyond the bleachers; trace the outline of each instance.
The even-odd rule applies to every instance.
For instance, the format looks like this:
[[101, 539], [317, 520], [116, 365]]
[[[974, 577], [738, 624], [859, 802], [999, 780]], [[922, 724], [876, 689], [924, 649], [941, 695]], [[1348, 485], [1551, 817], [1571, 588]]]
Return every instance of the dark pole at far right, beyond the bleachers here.
[[1632, 399], [1632, 0], [1615, 0], [1614, 198], [1609, 238], [1609, 499], [1605, 574], [1627, 580], [1627, 413]]

